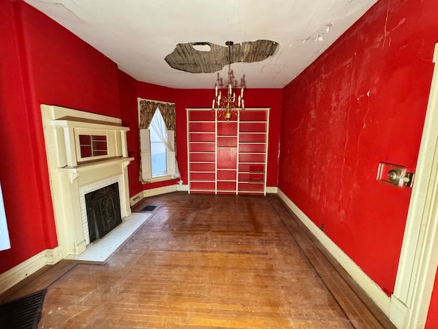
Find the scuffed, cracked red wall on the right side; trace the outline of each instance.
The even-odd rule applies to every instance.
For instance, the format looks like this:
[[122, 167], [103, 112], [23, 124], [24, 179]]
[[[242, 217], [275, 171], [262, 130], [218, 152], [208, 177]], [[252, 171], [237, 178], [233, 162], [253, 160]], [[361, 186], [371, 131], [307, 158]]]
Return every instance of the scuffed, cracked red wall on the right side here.
[[388, 295], [411, 189], [376, 173], [381, 161], [415, 171], [437, 12], [378, 1], [283, 90], [279, 188]]

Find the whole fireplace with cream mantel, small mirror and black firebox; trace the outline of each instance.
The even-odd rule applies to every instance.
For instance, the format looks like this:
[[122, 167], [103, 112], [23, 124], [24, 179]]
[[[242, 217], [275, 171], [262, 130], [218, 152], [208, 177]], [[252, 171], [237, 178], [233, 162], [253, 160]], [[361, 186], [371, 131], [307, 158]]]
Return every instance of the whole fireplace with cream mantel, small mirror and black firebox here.
[[[129, 128], [118, 118], [100, 114], [60, 106], [42, 105], [41, 109], [57, 239], [60, 256], [65, 258], [81, 254], [91, 241], [131, 215]], [[118, 191], [108, 188], [113, 189], [112, 196], [98, 197], [97, 201], [90, 197], [89, 203], [96, 207], [91, 210], [86, 195], [105, 186], [116, 186]], [[99, 216], [102, 218], [97, 219]]]

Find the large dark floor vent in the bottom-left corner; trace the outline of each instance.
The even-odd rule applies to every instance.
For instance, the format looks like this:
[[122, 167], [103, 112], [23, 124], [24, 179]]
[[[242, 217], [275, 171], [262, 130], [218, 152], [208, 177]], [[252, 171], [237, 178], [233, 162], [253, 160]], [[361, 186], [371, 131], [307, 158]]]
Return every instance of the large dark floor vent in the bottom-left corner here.
[[0, 326], [5, 329], [36, 329], [41, 319], [46, 289], [0, 305]]

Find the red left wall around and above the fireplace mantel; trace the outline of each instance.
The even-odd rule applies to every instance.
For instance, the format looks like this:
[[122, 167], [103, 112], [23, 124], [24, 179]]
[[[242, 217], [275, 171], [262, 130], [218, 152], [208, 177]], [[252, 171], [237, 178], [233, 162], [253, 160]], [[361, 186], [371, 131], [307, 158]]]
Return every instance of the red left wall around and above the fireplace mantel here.
[[57, 245], [40, 104], [120, 117], [114, 62], [22, 1], [0, 1], [0, 179], [12, 248], [0, 273]]

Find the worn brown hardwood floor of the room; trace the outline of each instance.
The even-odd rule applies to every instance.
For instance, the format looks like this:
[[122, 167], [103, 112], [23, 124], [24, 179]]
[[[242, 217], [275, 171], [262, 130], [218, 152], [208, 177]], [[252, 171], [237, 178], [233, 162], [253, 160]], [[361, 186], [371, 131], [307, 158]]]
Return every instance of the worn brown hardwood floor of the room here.
[[276, 195], [170, 193], [133, 210], [146, 204], [105, 264], [63, 260], [3, 300], [48, 287], [38, 328], [394, 328]]

